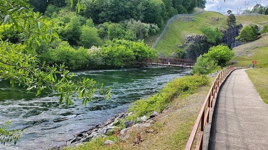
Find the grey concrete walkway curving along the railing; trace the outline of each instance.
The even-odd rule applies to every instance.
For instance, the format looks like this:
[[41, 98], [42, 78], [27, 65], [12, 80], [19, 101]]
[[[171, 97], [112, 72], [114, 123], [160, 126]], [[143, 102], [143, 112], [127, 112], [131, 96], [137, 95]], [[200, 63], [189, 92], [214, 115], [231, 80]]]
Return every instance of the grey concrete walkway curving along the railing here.
[[268, 105], [244, 69], [232, 72], [221, 86], [208, 149], [268, 149]]

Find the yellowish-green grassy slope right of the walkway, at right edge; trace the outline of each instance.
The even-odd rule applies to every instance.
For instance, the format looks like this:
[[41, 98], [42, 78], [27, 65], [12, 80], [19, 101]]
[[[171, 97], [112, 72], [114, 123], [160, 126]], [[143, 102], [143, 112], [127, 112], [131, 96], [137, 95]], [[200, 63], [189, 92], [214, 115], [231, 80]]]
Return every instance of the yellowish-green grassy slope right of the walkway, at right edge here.
[[268, 103], [268, 35], [234, 48], [238, 64], [248, 65], [257, 60], [257, 68], [246, 70], [262, 100]]

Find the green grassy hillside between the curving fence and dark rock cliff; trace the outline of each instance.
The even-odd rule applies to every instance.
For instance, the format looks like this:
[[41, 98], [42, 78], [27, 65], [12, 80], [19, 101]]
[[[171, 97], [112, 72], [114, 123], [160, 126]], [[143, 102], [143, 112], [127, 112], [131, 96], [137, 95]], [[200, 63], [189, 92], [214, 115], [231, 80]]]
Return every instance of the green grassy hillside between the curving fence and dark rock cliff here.
[[196, 16], [179, 17], [168, 27], [163, 39], [156, 49], [165, 55], [171, 55], [178, 50], [178, 45], [184, 43], [185, 35], [199, 34], [202, 25], [226, 27], [226, 16], [213, 11], [205, 11]]

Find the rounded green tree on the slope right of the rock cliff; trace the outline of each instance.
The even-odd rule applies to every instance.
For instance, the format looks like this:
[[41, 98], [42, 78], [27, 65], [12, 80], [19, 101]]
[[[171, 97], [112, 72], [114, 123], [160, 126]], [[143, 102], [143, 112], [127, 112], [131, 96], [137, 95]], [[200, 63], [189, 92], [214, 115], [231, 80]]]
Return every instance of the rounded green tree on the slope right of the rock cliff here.
[[251, 41], [256, 39], [259, 35], [260, 33], [258, 26], [256, 24], [249, 24], [240, 30], [239, 35], [236, 37], [236, 39], [244, 42]]

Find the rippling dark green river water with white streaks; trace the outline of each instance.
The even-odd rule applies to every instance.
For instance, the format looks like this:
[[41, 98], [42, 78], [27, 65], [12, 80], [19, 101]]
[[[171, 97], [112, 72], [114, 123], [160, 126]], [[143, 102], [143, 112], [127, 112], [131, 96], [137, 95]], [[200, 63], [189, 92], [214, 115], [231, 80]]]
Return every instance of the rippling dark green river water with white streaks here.
[[16, 145], [1, 145], [0, 149], [47, 149], [66, 143], [73, 134], [102, 123], [125, 111], [132, 101], [159, 91], [165, 83], [190, 73], [189, 68], [143, 67], [117, 70], [77, 71], [77, 77], [93, 78], [111, 87], [111, 98], [89, 102], [73, 98], [65, 107], [58, 97], [27, 93], [22, 87], [11, 87], [0, 81], [0, 124], [11, 120], [10, 128], [25, 129]]

